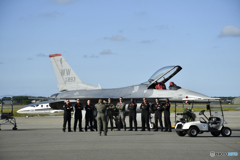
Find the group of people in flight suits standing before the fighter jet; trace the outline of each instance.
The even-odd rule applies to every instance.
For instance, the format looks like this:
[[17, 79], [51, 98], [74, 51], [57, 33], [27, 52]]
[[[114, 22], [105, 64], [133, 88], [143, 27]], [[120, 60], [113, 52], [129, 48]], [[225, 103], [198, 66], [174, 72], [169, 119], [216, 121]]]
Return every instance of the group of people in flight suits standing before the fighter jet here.
[[[119, 102], [114, 105], [111, 102], [111, 98], [108, 98], [108, 102], [99, 99], [98, 103], [93, 106], [90, 100], [87, 101], [87, 105], [83, 106], [80, 103], [80, 99], [77, 99], [77, 103], [72, 106], [69, 102], [69, 99], [66, 100], [66, 104], [63, 106], [64, 108], [64, 121], [63, 121], [63, 132], [66, 130], [66, 123], [68, 123], [68, 132], [72, 132], [71, 130], [71, 112], [74, 110], [74, 132], [78, 128], [80, 132], [83, 132], [82, 129], [82, 110], [85, 108], [85, 132], [87, 132], [88, 128], [91, 131], [96, 129], [98, 134], [101, 135], [102, 129], [104, 130], [104, 135], [107, 135], [107, 126], [110, 121], [111, 131], [114, 130], [113, 120], [117, 120], [117, 128], [118, 131], [123, 129], [126, 131], [126, 122], [125, 122], [125, 109], [126, 104], [123, 102], [123, 98], [119, 98]], [[129, 131], [133, 131], [133, 123], [134, 129], [137, 131], [137, 104], [134, 102], [134, 99], [131, 99], [131, 103], [128, 104], [129, 110]], [[150, 131], [149, 126], [149, 116], [150, 109], [155, 112], [155, 130], [158, 131], [158, 122], [160, 123], [161, 131], [171, 132], [171, 121], [170, 121], [170, 103], [169, 99], [166, 99], [165, 103], [160, 103], [158, 99], [155, 99], [155, 104], [150, 106], [147, 102], [146, 98], [143, 98], [143, 103], [140, 106], [142, 110], [141, 113], [141, 121], [142, 121], [142, 130], [145, 131], [145, 127], [147, 126], [147, 130]], [[165, 130], [163, 130], [162, 123], [162, 112], [164, 111], [164, 124]], [[114, 118], [115, 117], [115, 118]], [[89, 125], [90, 124], [90, 125]], [[93, 125], [94, 124], [94, 125]]]

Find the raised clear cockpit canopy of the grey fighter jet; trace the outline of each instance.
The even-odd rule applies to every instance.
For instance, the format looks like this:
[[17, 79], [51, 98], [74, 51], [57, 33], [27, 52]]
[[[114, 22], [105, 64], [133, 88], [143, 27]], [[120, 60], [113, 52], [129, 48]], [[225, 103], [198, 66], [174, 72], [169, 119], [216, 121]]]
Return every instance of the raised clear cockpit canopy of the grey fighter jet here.
[[156, 71], [148, 80], [149, 87], [155, 83], [166, 83], [169, 79], [175, 76], [180, 70], [181, 66], [167, 66]]

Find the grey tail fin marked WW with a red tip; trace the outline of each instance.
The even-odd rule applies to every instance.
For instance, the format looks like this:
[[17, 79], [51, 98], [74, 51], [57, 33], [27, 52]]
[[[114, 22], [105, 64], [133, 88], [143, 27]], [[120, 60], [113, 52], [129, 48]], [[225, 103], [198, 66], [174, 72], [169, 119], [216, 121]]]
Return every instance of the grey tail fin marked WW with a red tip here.
[[100, 89], [100, 87], [83, 83], [61, 54], [51, 54], [49, 57], [58, 80], [59, 91]]

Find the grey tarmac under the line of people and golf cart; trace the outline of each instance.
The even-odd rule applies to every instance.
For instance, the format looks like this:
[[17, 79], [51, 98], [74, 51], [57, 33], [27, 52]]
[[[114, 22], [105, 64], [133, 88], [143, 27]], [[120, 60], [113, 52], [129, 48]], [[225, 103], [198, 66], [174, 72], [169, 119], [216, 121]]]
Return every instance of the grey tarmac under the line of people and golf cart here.
[[[143, 132], [141, 122], [137, 132], [109, 129], [107, 136], [99, 136], [90, 131], [62, 132], [62, 116], [17, 117], [18, 130], [12, 130], [13, 125], [1, 126], [0, 160], [239, 160], [240, 111], [224, 114], [226, 126], [232, 129], [231, 137], [213, 137], [211, 133], [179, 137], [174, 130]], [[171, 121], [173, 124], [174, 114]], [[128, 118], [126, 122], [128, 127]], [[214, 157], [210, 156], [211, 152], [215, 152]], [[228, 156], [230, 152], [235, 156]]]

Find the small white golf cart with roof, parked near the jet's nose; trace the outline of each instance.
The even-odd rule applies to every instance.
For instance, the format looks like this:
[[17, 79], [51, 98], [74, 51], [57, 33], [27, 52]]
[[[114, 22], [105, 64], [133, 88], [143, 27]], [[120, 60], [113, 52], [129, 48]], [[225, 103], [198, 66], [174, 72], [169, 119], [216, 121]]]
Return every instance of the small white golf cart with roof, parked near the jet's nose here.
[[[208, 102], [207, 110], [209, 110], [210, 117], [204, 114], [205, 110], [199, 112], [199, 121], [179, 121], [175, 125], [175, 131], [179, 136], [188, 134], [190, 137], [196, 137], [203, 132], [211, 132], [214, 137], [220, 134], [224, 137], [229, 137], [232, 130], [229, 127], [224, 127], [224, 115], [220, 99], [211, 100]], [[213, 115], [215, 114], [215, 115]], [[221, 115], [221, 116], [218, 116]], [[203, 117], [204, 116], [204, 117]]]

